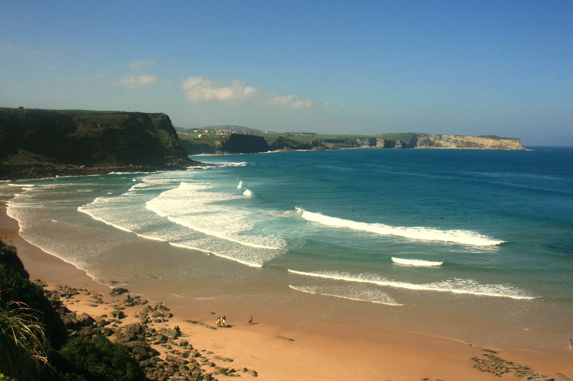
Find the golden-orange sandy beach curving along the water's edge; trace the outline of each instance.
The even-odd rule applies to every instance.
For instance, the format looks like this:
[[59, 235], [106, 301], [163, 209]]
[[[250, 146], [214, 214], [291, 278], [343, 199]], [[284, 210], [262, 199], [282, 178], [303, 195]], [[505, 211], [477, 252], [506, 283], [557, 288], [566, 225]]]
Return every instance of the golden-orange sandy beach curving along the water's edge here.
[[[103, 304], [91, 303], [87, 293], [66, 299], [67, 307], [77, 313], [91, 316], [109, 313], [119, 297], [109, 295], [107, 285], [97, 283], [83, 270], [45, 253], [19, 236], [16, 220], [6, 215], [6, 201], [0, 200], [0, 237], [18, 249], [30, 279], [41, 279], [47, 289], [58, 285], [88, 289], [103, 295]], [[132, 296], [137, 289], [129, 289]], [[197, 306], [178, 307], [167, 305], [172, 318], [156, 323], [155, 328], [172, 329], [179, 326], [183, 339], [189, 340], [198, 350], [213, 352], [211, 356], [234, 359], [236, 369], [249, 368], [258, 372], [261, 380], [519, 380], [515, 371], [501, 376], [480, 371], [476, 359], [488, 358], [488, 348], [461, 343], [457, 340], [419, 334], [410, 331], [360, 326], [334, 326], [304, 321], [293, 321], [276, 316], [254, 316], [254, 324], [236, 311], [211, 311], [202, 303]], [[208, 305], [207, 305], [208, 306]], [[137, 321], [142, 306], [127, 307], [126, 315], [118, 324]], [[226, 315], [230, 328], [216, 327], [218, 316]], [[191, 323], [193, 320], [197, 323]], [[198, 324], [203, 323], [203, 324]], [[564, 343], [564, 347], [566, 344]], [[165, 348], [156, 348], [162, 356]], [[209, 355], [207, 355], [209, 356]], [[524, 350], [497, 351], [495, 356], [527, 365], [531, 370], [550, 375], [556, 380], [573, 377], [573, 352], [547, 354]], [[472, 360], [472, 358], [474, 360]], [[565, 377], [563, 377], [564, 375]], [[252, 375], [242, 375], [253, 378]], [[217, 375], [223, 380], [229, 377]]]

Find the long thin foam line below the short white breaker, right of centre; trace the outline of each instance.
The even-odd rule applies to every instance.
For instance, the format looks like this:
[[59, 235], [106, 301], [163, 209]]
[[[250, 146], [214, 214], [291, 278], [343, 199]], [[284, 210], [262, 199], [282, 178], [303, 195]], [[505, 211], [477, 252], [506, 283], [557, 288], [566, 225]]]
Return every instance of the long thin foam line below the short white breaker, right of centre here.
[[[535, 299], [535, 297], [519, 295], [519, 293], [515, 289], [508, 288], [507, 286], [483, 285], [483, 284], [478, 284], [473, 280], [455, 279], [453, 281], [445, 280], [442, 281], [441, 283], [414, 284], [414, 283], [392, 281], [382, 277], [372, 276], [367, 274], [366, 276], [369, 276], [370, 279], [368, 277], [357, 277], [355, 275], [350, 275], [346, 273], [304, 272], [291, 269], [288, 269], [288, 271], [299, 275], [315, 276], [319, 278], [327, 278], [335, 280], [346, 280], [359, 283], [371, 283], [395, 288], [405, 288], [405, 289], [422, 290], [422, 291], [467, 293], [471, 295], [482, 295], [482, 296], [511, 297], [512, 299], [528, 299], [528, 300]], [[458, 284], [456, 284], [456, 282]], [[488, 288], [493, 289], [493, 291], [489, 291]]]

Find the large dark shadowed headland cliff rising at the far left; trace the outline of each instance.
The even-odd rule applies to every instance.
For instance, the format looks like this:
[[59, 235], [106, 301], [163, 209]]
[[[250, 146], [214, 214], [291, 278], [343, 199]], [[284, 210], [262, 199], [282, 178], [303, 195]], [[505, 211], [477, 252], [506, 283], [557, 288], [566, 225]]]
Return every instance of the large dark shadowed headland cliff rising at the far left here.
[[0, 108], [0, 179], [197, 165], [166, 114]]

